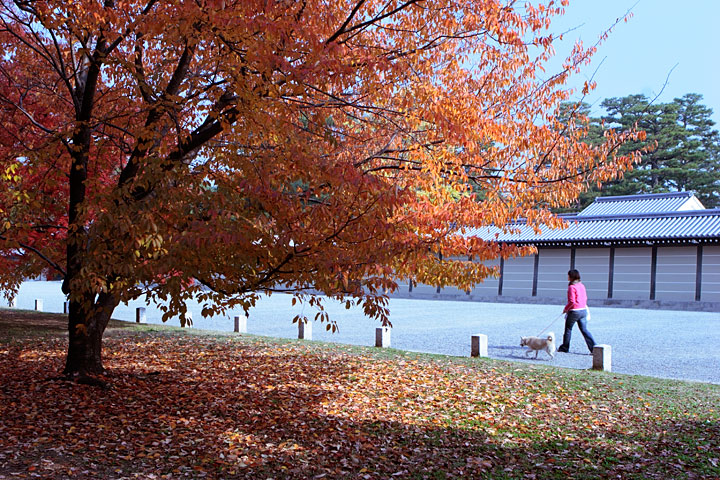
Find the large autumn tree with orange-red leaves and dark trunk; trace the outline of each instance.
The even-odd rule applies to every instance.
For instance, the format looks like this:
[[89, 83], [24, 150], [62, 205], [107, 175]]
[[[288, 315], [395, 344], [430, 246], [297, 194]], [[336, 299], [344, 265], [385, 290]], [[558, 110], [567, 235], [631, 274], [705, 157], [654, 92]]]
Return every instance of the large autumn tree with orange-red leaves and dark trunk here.
[[313, 288], [386, 321], [395, 278], [467, 288], [523, 253], [464, 227], [558, 225], [633, 160], [556, 120], [593, 48], [539, 79], [554, 1], [0, 5], [0, 285], [62, 276], [68, 376], [145, 294], [167, 318]]

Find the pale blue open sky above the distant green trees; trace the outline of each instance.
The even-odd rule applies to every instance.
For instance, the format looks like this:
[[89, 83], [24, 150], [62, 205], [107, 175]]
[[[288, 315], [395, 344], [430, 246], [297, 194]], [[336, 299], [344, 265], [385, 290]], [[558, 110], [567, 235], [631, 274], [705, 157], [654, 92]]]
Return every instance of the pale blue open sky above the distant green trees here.
[[571, 86], [582, 86], [594, 73], [598, 85], [585, 101], [601, 114], [603, 99], [631, 94], [652, 99], [667, 79], [658, 102], [699, 93], [720, 130], [720, 0], [570, 0], [552, 27], [554, 33], [577, 27], [556, 47], [559, 56], [576, 39], [594, 44], [629, 9], [633, 17], [615, 27]]

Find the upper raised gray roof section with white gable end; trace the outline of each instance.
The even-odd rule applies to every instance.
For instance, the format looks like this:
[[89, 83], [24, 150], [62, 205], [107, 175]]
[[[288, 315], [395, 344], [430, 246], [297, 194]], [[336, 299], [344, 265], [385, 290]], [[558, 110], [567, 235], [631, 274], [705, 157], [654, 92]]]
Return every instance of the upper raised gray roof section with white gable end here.
[[651, 193], [620, 197], [598, 197], [578, 216], [682, 212], [703, 210], [704, 208], [692, 192]]

